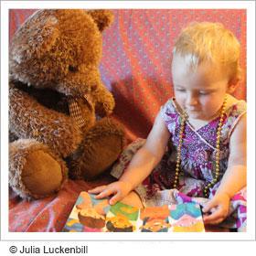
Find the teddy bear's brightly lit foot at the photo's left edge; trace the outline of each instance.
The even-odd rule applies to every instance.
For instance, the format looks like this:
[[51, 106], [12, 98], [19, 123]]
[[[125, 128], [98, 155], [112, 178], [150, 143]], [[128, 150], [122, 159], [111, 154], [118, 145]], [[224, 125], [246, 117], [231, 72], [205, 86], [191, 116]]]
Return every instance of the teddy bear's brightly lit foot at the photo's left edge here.
[[48, 147], [34, 140], [10, 144], [9, 184], [20, 197], [48, 197], [59, 191], [67, 167]]

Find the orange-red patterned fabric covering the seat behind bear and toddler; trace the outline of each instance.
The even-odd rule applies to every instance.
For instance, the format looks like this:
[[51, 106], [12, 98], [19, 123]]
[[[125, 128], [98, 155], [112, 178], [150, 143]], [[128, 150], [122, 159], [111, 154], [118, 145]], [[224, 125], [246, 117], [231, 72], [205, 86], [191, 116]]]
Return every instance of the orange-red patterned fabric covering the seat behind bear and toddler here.
[[[9, 37], [35, 10], [9, 13]], [[241, 67], [246, 70], [246, 10], [113, 10], [115, 20], [103, 35], [101, 79], [112, 91], [115, 119], [124, 124], [130, 141], [146, 137], [161, 105], [173, 96], [171, 52], [182, 27], [193, 21], [221, 22], [240, 40]], [[245, 72], [246, 75], [246, 72]], [[245, 99], [246, 81], [235, 96]], [[10, 191], [10, 231], [59, 231], [80, 191], [102, 184], [71, 181], [58, 197], [27, 202]], [[106, 180], [105, 180], [106, 182]]]

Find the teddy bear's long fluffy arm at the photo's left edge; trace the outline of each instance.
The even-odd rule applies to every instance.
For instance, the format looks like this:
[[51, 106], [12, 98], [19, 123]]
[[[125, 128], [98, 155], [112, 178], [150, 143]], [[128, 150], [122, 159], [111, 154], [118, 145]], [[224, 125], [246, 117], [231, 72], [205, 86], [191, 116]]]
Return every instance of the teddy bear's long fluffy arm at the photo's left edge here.
[[19, 138], [34, 138], [62, 157], [74, 152], [82, 139], [69, 116], [44, 107], [13, 84], [9, 87], [9, 121], [10, 130]]

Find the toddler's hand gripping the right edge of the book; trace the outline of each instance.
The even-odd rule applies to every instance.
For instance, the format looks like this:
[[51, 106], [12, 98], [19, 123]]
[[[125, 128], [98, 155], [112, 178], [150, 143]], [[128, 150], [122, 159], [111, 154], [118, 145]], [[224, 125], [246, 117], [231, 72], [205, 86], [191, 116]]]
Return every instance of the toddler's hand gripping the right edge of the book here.
[[[218, 193], [208, 201], [203, 208], [206, 215], [203, 216], [205, 224], [219, 224], [229, 214], [230, 197], [226, 193]], [[209, 213], [209, 214], [208, 214]]]

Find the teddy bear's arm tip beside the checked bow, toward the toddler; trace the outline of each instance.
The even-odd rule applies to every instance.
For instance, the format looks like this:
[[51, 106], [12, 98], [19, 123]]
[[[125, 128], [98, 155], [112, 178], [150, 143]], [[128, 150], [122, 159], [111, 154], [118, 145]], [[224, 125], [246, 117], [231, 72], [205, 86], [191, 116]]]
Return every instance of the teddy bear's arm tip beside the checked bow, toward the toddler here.
[[101, 116], [110, 115], [114, 108], [114, 99], [112, 93], [108, 91], [103, 84], [92, 91], [92, 97], [95, 101], [95, 110]]

